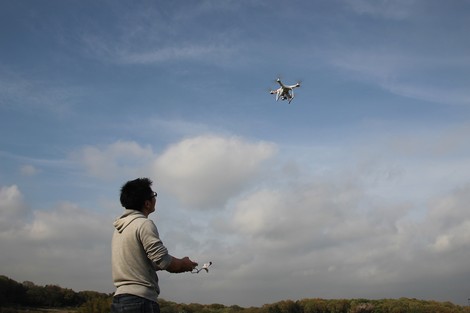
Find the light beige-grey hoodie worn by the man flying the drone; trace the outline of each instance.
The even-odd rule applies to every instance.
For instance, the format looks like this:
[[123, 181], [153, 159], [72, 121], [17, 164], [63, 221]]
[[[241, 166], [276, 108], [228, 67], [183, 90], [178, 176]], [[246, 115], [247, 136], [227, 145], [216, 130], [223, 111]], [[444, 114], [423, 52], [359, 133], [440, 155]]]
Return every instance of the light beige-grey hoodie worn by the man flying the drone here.
[[116, 295], [132, 294], [157, 301], [160, 294], [156, 271], [171, 263], [152, 220], [140, 211], [125, 210], [114, 221], [112, 272]]

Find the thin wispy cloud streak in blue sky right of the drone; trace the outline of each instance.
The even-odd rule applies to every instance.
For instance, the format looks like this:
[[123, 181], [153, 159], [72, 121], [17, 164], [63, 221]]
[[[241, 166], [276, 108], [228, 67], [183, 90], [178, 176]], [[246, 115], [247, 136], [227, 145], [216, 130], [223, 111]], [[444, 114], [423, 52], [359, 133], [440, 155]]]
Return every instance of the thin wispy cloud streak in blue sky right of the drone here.
[[326, 49], [323, 55], [345, 73], [352, 73], [353, 79], [377, 84], [393, 94], [435, 103], [470, 104], [468, 81], [454, 77], [468, 68], [464, 53], [443, 57], [438, 52], [371, 43], [367, 49]]

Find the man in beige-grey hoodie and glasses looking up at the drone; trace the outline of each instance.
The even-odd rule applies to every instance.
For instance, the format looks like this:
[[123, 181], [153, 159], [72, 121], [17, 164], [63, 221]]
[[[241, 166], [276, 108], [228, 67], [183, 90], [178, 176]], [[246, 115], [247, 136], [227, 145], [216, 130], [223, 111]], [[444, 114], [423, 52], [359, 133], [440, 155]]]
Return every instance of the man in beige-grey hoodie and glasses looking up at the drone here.
[[152, 181], [138, 178], [121, 188], [124, 213], [114, 222], [112, 274], [116, 292], [111, 313], [159, 313], [160, 288], [156, 271], [190, 272], [197, 263], [168, 253], [157, 227], [148, 219], [155, 211], [157, 193]]

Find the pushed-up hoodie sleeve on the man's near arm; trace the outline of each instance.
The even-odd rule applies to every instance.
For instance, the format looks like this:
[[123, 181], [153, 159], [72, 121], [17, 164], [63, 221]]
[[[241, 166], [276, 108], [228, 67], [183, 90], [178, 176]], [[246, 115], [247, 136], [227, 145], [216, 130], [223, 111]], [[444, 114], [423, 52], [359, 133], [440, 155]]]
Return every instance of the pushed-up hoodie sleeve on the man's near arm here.
[[170, 265], [172, 257], [160, 239], [157, 226], [152, 220], [147, 219], [142, 224], [139, 234], [147, 257], [154, 263], [156, 269], [166, 269]]

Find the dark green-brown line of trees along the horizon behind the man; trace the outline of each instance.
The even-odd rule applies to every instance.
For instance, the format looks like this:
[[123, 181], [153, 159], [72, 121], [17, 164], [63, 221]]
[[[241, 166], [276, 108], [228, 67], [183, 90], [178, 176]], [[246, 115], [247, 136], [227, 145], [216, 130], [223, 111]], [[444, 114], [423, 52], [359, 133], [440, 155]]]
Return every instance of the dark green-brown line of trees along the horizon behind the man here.
[[[109, 313], [112, 294], [36, 286], [0, 276], [0, 313]], [[470, 313], [450, 302], [400, 299], [285, 300], [261, 307], [181, 304], [159, 299], [161, 313]]]

